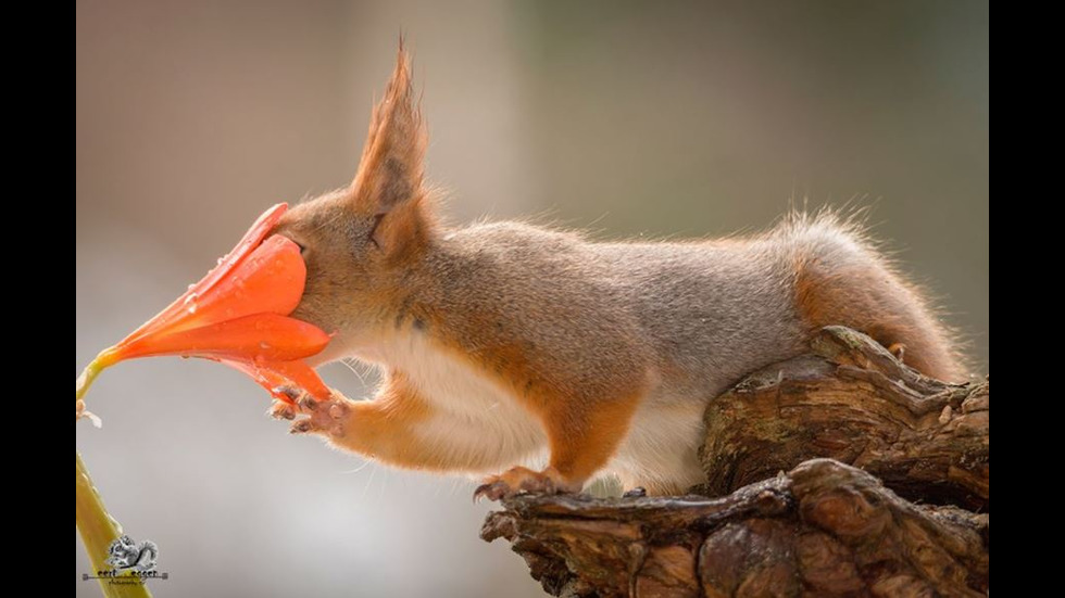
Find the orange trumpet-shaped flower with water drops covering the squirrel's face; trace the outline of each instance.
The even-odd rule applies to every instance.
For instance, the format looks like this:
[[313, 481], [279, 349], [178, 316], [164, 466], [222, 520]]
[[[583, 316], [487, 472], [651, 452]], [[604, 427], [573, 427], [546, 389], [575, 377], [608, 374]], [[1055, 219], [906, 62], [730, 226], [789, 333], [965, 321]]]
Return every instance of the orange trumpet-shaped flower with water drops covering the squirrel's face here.
[[77, 380], [78, 400], [103, 368], [152, 355], [221, 361], [251, 376], [286, 402], [291, 399], [281, 392], [285, 386], [303, 389], [316, 398], [328, 397], [328, 387], [303, 359], [324, 349], [329, 335], [288, 317], [300, 303], [306, 280], [300, 247], [279, 234], [266, 238], [286, 209], [287, 204], [267, 209], [202, 280], [122, 342], [101, 352]]

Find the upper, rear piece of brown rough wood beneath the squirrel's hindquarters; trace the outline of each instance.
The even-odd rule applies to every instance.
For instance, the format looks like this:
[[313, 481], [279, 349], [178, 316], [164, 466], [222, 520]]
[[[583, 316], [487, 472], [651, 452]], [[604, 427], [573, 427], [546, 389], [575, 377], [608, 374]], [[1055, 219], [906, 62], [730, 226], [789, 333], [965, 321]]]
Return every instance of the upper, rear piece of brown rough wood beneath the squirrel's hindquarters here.
[[990, 511], [990, 380], [924, 377], [842, 327], [822, 330], [812, 348], [710, 404], [700, 494], [727, 494], [828, 457], [911, 500]]

